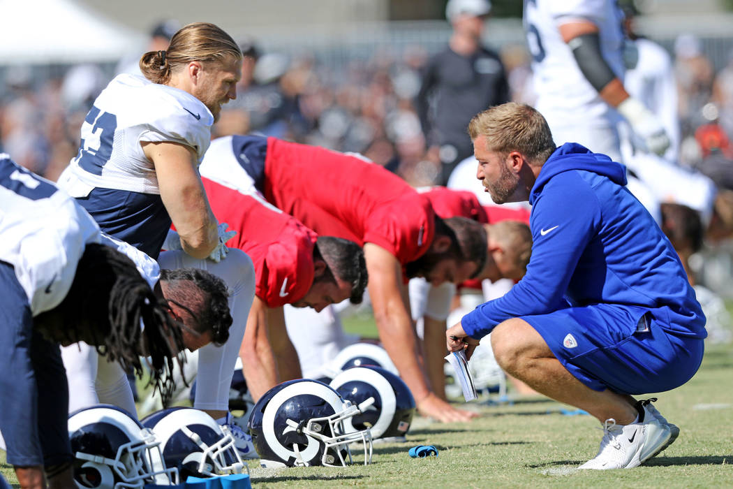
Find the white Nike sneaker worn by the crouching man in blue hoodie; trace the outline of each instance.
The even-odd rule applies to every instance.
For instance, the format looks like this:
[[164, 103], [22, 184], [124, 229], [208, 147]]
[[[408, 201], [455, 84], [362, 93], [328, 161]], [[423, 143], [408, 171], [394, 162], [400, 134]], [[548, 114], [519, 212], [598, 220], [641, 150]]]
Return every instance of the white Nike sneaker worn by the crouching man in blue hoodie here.
[[641, 419], [636, 423], [622, 426], [614, 419], [605, 420], [598, 454], [580, 468], [632, 468], [664, 449], [671, 438], [669, 428], [649, 412], [647, 405], [640, 402], [637, 408]]

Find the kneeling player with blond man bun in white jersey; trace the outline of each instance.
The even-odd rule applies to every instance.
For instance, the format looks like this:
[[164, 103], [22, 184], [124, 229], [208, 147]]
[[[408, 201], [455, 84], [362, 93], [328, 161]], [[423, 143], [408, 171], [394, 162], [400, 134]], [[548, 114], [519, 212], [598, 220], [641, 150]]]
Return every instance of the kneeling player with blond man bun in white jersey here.
[[[229, 384], [254, 297], [254, 273], [246, 254], [232, 250], [227, 256], [224, 243], [233, 233], [216, 221], [197, 166], [221, 105], [236, 98], [241, 66], [239, 46], [218, 26], [184, 26], [165, 51], [141, 56], [144, 76], [121, 74], [100, 93], [81, 127], [79, 152], [59, 178], [104, 232], [150, 257], [158, 258], [174, 224], [180, 239], [167, 249], [185, 254], [163, 268], [203, 268], [228, 285], [231, 300], [239, 303], [230, 304], [231, 339], [222, 348], [199, 350], [194, 406], [220, 423], [228, 419]], [[245, 278], [248, 283], [241, 282]], [[238, 434], [246, 452], [248, 435]]]

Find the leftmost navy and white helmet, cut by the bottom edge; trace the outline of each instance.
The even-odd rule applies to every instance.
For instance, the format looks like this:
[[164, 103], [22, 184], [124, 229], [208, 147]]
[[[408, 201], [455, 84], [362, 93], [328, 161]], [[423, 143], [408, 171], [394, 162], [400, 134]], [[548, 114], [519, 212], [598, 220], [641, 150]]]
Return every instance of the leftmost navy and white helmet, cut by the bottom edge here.
[[160, 443], [150, 430], [117, 406], [100, 404], [69, 416], [73, 477], [80, 489], [175, 485], [176, 468], [162, 463]]

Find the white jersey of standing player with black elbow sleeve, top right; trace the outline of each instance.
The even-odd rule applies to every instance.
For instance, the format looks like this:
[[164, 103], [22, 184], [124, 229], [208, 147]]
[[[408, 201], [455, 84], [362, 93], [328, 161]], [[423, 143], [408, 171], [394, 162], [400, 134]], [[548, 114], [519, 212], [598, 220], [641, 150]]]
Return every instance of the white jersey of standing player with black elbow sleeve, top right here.
[[[600, 98], [581, 73], [570, 47], [562, 40], [559, 26], [572, 21], [590, 21], [599, 29], [605, 62], [623, 81], [623, 14], [616, 0], [525, 0], [523, 23], [532, 56], [535, 107], [553, 128], [553, 121], [568, 120], [583, 125], [608, 125], [619, 116]], [[561, 141], [565, 142], [565, 141]]]

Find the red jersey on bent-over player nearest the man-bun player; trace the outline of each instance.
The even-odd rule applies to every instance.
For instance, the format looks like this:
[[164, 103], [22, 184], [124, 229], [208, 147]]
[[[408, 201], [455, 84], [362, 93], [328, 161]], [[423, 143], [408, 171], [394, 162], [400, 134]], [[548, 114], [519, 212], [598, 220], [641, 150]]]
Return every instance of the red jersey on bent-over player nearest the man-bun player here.
[[226, 246], [241, 249], [254, 262], [255, 295], [268, 307], [303, 298], [313, 284], [316, 233], [259, 198], [202, 180], [217, 221], [237, 232]]

